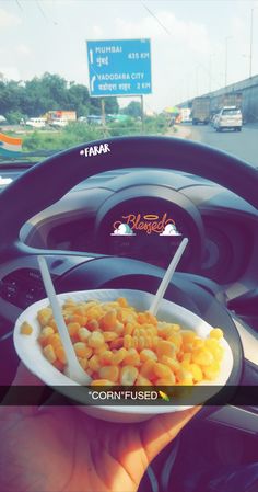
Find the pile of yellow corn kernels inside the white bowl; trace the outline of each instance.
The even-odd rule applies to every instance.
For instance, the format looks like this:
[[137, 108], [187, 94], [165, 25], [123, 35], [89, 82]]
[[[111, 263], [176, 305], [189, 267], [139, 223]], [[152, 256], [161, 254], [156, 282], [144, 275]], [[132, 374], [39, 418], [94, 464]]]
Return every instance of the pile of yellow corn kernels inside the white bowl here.
[[[67, 298], [62, 313], [74, 352], [92, 385], [196, 385], [221, 370], [223, 331], [203, 337], [176, 320], [161, 321], [126, 297], [112, 301]], [[37, 312], [38, 343], [47, 361], [64, 371], [66, 354], [49, 307]], [[24, 323], [23, 323], [24, 324]], [[54, 328], [52, 328], [54, 327]], [[58, 363], [58, 364], [57, 364]]]

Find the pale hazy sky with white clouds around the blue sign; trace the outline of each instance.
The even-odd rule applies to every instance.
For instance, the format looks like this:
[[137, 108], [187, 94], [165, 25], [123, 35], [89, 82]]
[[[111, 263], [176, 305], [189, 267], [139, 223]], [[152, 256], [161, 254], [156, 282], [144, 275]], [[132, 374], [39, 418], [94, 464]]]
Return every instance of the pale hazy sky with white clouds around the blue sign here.
[[48, 71], [89, 87], [86, 41], [150, 38], [144, 107], [160, 112], [249, 77], [251, 10], [254, 76], [258, 0], [0, 0], [0, 78]]

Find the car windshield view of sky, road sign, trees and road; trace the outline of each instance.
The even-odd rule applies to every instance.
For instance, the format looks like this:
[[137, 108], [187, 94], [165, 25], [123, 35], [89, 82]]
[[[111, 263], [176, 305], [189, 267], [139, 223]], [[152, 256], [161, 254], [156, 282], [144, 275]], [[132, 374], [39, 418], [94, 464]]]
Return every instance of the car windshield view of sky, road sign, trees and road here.
[[165, 135], [258, 167], [258, 1], [1, 0], [0, 46], [0, 164]]

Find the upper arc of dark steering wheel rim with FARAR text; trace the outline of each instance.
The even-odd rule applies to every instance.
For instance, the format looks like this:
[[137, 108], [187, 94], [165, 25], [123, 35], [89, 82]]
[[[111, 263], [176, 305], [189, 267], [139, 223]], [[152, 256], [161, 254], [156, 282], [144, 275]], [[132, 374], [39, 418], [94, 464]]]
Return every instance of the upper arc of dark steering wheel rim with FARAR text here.
[[[85, 148], [93, 149], [91, 155], [85, 156]], [[227, 153], [169, 137], [107, 138], [77, 146], [35, 164], [1, 193], [0, 230], [4, 230], [4, 238], [0, 254], [13, 247], [22, 250], [19, 232], [23, 224], [82, 180], [104, 171], [139, 167], [197, 174], [225, 186], [258, 208], [257, 170]], [[30, 250], [33, 253], [33, 248], [26, 252]]]

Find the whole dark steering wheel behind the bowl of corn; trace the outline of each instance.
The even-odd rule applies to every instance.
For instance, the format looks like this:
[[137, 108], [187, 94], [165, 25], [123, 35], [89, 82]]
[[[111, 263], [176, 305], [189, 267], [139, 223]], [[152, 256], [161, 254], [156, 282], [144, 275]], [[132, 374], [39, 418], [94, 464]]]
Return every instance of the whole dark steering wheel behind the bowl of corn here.
[[[93, 141], [79, 147], [60, 152], [49, 159], [34, 165], [17, 180], [10, 184], [0, 195], [0, 230], [4, 231], [0, 243], [0, 264], [12, 260], [19, 260], [22, 264], [24, 258], [30, 255], [54, 254], [78, 255], [81, 253], [36, 250], [22, 243], [19, 239], [20, 229], [23, 224], [33, 215], [42, 211], [61, 198], [73, 186], [82, 180], [99, 172], [122, 168], [167, 168], [178, 170], [206, 178], [218, 184], [225, 186], [238, 196], [246, 199], [254, 207], [258, 208], [258, 173], [251, 167], [221, 151], [204, 147], [200, 144], [167, 137], [121, 137], [108, 138], [104, 141]], [[91, 254], [94, 258], [94, 254]], [[96, 258], [96, 255], [95, 255]], [[107, 261], [109, 260], [109, 262]], [[86, 262], [82, 265], [81, 272], [84, 278], [94, 271], [96, 262], [98, 266], [104, 262], [105, 267], [114, 272], [124, 271], [120, 287], [132, 287], [128, 278], [134, 271], [138, 278], [133, 288], [146, 289], [141, 283], [142, 278], [154, 278], [154, 283], [148, 283], [148, 287], [153, 290], [159, 284], [159, 275], [162, 271], [157, 267], [150, 267], [136, 260], [107, 258], [96, 259], [95, 263]], [[150, 265], [149, 265], [150, 266]], [[79, 267], [80, 270], [80, 267]], [[138, 274], [138, 275], [137, 275]], [[140, 276], [143, 275], [142, 278]], [[102, 277], [92, 288], [117, 287], [117, 277], [114, 274], [108, 278]], [[132, 275], [133, 277], [133, 275]], [[133, 277], [133, 278], [134, 278]], [[81, 276], [73, 279], [81, 282]], [[94, 277], [97, 279], [97, 277]], [[127, 285], [125, 285], [127, 284]], [[72, 290], [72, 278], [67, 277], [62, 288], [69, 285], [68, 290]], [[85, 288], [87, 285], [74, 285], [75, 289]], [[171, 286], [168, 298], [184, 305], [184, 299], [194, 299], [192, 310], [201, 312], [208, 322], [213, 325], [221, 325], [225, 331], [225, 337], [233, 351], [235, 364], [228, 384], [237, 385], [241, 380], [243, 369], [243, 351], [237, 330], [231, 316], [209, 291], [203, 290], [197, 284], [189, 282], [187, 274], [178, 274], [177, 286]], [[180, 302], [183, 299], [183, 302]], [[185, 307], [189, 308], [189, 302]], [[204, 313], [203, 313], [204, 311]]]

